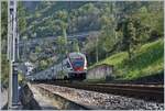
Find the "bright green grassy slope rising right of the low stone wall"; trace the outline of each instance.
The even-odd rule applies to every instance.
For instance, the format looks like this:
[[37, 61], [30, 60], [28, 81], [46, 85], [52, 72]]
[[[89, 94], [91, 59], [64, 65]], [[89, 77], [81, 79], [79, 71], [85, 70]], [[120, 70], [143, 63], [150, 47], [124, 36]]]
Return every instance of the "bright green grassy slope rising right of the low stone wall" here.
[[[113, 65], [117, 79], [122, 80], [132, 80], [164, 70], [163, 38], [144, 44], [139, 48], [139, 51], [135, 52], [135, 57], [131, 62], [128, 60], [128, 53], [121, 52], [97, 63], [96, 65]], [[95, 67], [96, 65], [91, 67]]]

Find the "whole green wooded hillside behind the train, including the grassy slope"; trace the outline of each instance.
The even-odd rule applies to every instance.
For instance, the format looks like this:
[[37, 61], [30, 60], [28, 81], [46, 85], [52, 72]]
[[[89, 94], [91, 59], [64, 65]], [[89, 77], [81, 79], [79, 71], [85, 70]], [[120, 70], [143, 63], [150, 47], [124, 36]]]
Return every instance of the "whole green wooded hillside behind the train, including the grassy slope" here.
[[[1, 45], [4, 79], [9, 74], [7, 8], [8, 2], [3, 1]], [[163, 9], [163, 1], [20, 1], [18, 31], [20, 41], [25, 42], [20, 45], [19, 62], [33, 63], [37, 71], [61, 62], [67, 53], [81, 52], [86, 54], [89, 66], [98, 62], [113, 65], [117, 79], [135, 79], [160, 73], [163, 70], [163, 42], [147, 42], [164, 36]], [[68, 35], [90, 31], [97, 33], [91, 33], [84, 42], [67, 40]], [[44, 41], [50, 36], [57, 36], [57, 41]], [[28, 44], [26, 41], [33, 38], [41, 41]], [[129, 62], [128, 52], [144, 43], [147, 44], [139, 48], [134, 59]]]

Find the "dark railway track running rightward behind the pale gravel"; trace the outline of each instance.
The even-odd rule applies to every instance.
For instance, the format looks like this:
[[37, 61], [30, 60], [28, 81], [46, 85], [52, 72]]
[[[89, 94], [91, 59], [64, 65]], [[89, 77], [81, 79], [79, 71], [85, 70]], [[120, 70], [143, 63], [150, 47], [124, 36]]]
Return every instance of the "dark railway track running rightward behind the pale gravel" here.
[[44, 82], [50, 85], [70, 87], [103, 93], [133, 97], [146, 101], [164, 102], [163, 85], [131, 85], [131, 84], [85, 84], [85, 82]]

